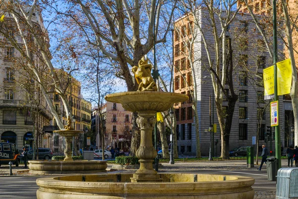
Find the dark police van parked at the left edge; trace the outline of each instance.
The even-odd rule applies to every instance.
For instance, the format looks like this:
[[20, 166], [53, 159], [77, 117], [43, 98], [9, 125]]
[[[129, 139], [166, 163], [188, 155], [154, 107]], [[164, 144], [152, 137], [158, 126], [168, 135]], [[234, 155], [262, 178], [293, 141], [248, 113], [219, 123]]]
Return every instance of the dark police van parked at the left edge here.
[[9, 162], [18, 167], [20, 153], [13, 143], [0, 142], [0, 166], [8, 165]]

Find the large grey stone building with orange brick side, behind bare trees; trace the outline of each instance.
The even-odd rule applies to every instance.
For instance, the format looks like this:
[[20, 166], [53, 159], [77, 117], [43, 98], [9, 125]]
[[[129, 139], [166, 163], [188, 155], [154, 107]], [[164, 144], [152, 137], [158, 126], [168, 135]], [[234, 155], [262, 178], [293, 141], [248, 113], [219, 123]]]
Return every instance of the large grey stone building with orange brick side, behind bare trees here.
[[[215, 62], [214, 38], [211, 32], [210, 17], [208, 11], [200, 9], [198, 11], [198, 21], [201, 26], [205, 38], [209, 44], [211, 59]], [[224, 14], [223, 14], [223, 17]], [[218, 19], [216, 19], [218, 20]], [[220, 23], [218, 30], [221, 30]], [[193, 31], [190, 31], [192, 28]], [[197, 33], [191, 35], [192, 32]], [[262, 86], [262, 71], [264, 68], [272, 65], [272, 59], [262, 42], [262, 37], [255, 28], [251, 16], [246, 13], [239, 13], [235, 19], [229, 24], [226, 38], [231, 38], [233, 49], [233, 86], [235, 93], [239, 95], [235, 104], [235, 110], [232, 119], [232, 127], [230, 130], [229, 147], [236, 146], [252, 146], [252, 137], [257, 134], [257, 124], [262, 118], [263, 122], [260, 128], [260, 147], [265, 143], [266, 126], [270, 125], [270, 112], [268, 100], [264, 99], [264, 88]], [[193, 49], [188, 52], [188, 39], [194, 39]], [[282, 41], [279, 39], [278, 49], [283, 51]], [[207, 53], [203, 42], [202, 34], [191, 18], [184, 16], [175, 21], [174, 34], [174, 64], [175, 64], [175, 93], [183, 93], [189, 95], [193, 87], [197, 88], [197, 111], [199, 117], [199, 134], [201, 143], [202, 156], [207, 156], [210, 146], [210, 108], [212, 110], [212, 123], [217, 124], [216, 133], [213, 136], [213, 154], [220, 155], [221, 135], [218, 123], [216, 104], [213, 100], [213, 86], [210, 73], [207, 71], [208, 66]], [[190, 63], [187, 55], [194, 53], [192, 60], [195, 68], [195, 74], [192, 76]], [[282, 56], [282, 53], [280, 54]], [[197, 85], [193, 85], [193, 77], [196, 79]], [[187, 83], [187, 84], [186, 84]], [[189, 86], [188, 86], [189, 85]], [[228, 92], [227, 85], [224, 89]], [[211, 104], [210, 104], [211, 98]], [[175, 115], [177, 119], [177, 147], [178, 153], [188, 155], [196, 154], [196, 132], [193, 120], [193, 109], [191, 108], [192, 99], [184, 101], [176, 105]], [[280, 97], [280, 115], [285, 114], [284, 100]], [[227, 100], [224, 98], [223, 109], [226, 111]], [[263, 109], [266, 111], [263, 112]], [[213, 116], [214, 115], [214, 116]], [[284, 129], [284, 118], [280, 118], [281, 129]], [[282, 142], [284, 142], [284, 131], [281, 131]], [[219, 141], [218, 144], [216, 141]], [[268, 142], [268, 141], [267, 141]], [[270, 142], [268, 142], [268, 145]], [[271, 149], [274, 149], [274, 141]]]

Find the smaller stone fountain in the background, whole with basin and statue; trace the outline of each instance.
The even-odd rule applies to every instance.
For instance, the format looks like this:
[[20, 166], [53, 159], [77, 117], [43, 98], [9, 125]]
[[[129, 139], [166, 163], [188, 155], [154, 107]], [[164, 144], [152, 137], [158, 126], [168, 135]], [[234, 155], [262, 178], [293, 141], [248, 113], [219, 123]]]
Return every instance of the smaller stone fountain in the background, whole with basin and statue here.
[[68, 116], [68, 123], [65, 130], [56, 130], [55, 133], [65, 137], [66, 150], [63, 161], [58, 160], [30, 160], [28, 168], [32, 174], [74, 174], [74, 173], [98, 173], [106, 172], [107, 161], [94, 160], [73, 160], [71, 143], [73, 137], [83, 131], [74, 130], [71, 117]]

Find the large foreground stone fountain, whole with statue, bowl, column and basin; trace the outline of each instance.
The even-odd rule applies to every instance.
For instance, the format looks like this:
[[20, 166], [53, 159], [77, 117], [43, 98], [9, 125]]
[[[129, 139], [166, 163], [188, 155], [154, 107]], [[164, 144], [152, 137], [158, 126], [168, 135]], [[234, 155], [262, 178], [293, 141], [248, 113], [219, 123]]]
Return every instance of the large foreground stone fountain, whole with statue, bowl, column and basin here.
[[188, 100], [183, 94], [157, 92], [150, 75], [151, 65], [144, 58], [133, 67], [139, 83], [137, 92], [110, 94], [107, 101], [121, 103], [138, 112], [141, 144], [137, 150], [140, 169], [134, 174], [76, 175], [37, 179], [38, 199], [253, 199], [254, 179], [241, 176], [157, 173], [152, 162], [157, 152], [152, 145], [156, 112], [173, 103]]

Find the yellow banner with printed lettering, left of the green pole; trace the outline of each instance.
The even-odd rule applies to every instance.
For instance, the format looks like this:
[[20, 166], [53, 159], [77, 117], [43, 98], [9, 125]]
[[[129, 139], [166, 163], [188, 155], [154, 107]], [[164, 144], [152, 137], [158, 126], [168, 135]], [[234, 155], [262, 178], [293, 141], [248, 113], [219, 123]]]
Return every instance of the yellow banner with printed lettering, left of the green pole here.
[[[274, 69], [270, 66], [263, 70], [264, 96], [274, 94]], [[265, 97], [265, 100], [266, 97]]]

